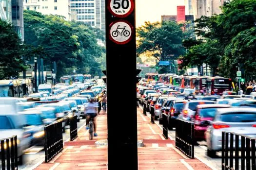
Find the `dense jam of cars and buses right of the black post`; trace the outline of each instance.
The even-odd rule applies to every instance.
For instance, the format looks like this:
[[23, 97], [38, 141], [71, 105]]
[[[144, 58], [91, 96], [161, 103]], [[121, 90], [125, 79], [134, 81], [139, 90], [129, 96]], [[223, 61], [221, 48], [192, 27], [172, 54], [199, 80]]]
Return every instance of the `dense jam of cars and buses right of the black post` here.
[[211, 158], [221, 156], [222, 131], [256, 137], [256, 94], [238, 95], [233, 89], [224, 77], [148, 73], [137, 84], [137, 101], [160, 125], [162, 115], [168, 116], [173, 138], [177, 119], [193, 122], [195, 153], [219, 164]]

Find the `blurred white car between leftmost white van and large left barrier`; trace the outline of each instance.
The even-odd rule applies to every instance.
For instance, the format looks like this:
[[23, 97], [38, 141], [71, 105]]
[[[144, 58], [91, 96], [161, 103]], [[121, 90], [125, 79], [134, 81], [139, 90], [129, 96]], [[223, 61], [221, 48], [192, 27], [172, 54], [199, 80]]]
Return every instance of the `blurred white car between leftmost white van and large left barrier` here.
[[26, 119], [24, 129], [33, 136], [30, 146], [44, 146], [44, 122], [42, 121], [40, 111], [23, 111], [18, 114]]

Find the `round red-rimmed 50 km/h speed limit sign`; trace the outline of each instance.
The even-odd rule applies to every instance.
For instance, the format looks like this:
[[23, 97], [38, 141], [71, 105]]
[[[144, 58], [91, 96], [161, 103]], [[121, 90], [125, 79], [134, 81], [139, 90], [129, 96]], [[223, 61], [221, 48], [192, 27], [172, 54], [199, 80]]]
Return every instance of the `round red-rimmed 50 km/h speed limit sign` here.
[[108, 9], [116, 17], [127, 17], [134, 10], [134, 0], [109, 0]]

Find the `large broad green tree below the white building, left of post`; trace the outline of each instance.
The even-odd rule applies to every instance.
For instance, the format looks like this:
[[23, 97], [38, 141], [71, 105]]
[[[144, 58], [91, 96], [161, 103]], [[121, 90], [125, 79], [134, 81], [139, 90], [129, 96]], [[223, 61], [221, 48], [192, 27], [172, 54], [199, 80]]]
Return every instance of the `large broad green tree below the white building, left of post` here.
[[91, 68], [100, 69], [96, 61], [104, 48], [97, 39], [103, 39], [100, 30], [82, 22], [70, 22], [61, 16], [42, 15], [24, 11], [25, 43], [43, 49], [41, 58], [45, 65], [57, 63], [57, 78], [69, 74], [73, 68], [87, 73]]

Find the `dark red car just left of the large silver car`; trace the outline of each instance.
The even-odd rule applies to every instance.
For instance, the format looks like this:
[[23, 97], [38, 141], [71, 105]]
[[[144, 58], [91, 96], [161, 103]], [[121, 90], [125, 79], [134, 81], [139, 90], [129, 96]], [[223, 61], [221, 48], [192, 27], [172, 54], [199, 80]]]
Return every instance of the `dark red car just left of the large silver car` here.
[[229, 108], [228, 104], [199, 104], [191, 121], [194, 122], [195, 142], [205, 140], [204, 133], [208, 128], [208, 120], [213, 120], [218, 108]]

